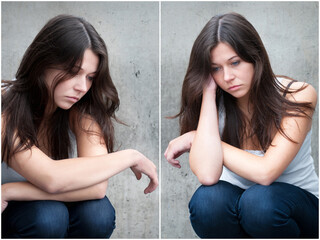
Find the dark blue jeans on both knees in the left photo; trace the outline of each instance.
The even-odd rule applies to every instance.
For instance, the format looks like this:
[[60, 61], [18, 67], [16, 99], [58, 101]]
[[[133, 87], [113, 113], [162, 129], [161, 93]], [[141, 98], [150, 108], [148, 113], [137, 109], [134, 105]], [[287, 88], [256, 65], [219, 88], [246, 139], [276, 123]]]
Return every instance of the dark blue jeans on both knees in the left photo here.
[[115, 210], [107, 197], [80, 202], [11, 201], [2, 213], [4, 238], [109, 238]]

